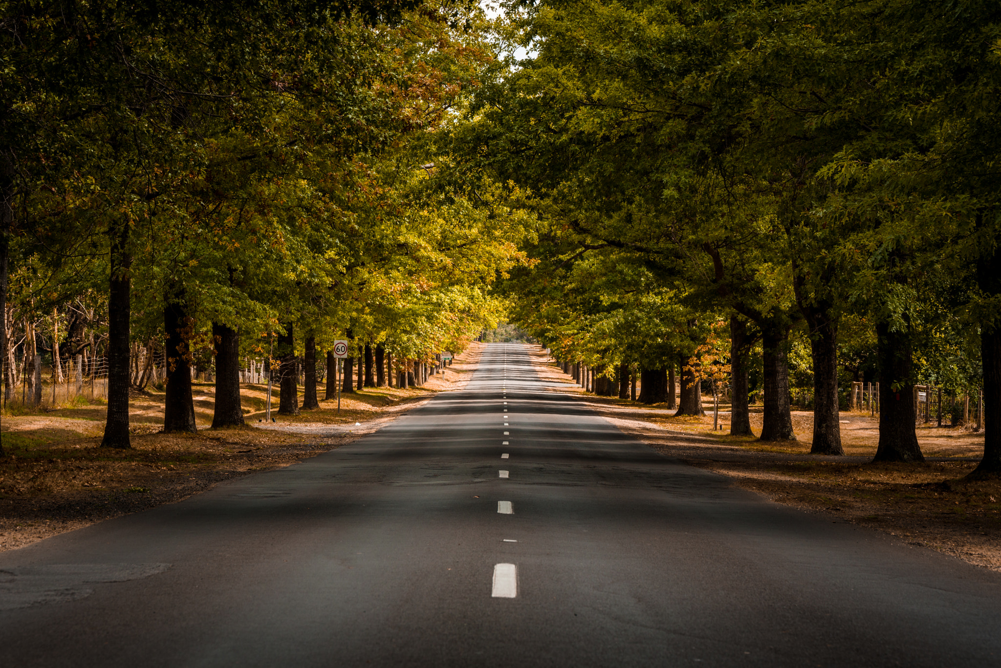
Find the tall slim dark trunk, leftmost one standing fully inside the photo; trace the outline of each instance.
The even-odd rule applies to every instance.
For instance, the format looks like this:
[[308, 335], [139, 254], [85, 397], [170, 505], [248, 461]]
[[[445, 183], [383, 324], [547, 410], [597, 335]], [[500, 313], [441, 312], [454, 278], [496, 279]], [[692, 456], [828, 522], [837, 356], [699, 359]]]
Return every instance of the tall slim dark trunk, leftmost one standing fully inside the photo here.
[[128, 435], [129, 320], [132, 315], [132, 256], [129, 226], [122, 220], [112, 229], [111, 280], [108, 290], [108, 417], [103, 448], [131, 448]]

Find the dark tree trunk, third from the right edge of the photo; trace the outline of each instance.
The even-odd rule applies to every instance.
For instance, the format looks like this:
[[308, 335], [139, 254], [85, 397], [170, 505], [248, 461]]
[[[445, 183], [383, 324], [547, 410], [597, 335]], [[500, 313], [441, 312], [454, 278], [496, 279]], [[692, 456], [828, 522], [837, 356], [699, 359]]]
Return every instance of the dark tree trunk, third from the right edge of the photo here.
[[844, 455], [838, 412], [838, 323], [811, 310], [810, 351], [814, 363], [814, 438], [812, 455]]

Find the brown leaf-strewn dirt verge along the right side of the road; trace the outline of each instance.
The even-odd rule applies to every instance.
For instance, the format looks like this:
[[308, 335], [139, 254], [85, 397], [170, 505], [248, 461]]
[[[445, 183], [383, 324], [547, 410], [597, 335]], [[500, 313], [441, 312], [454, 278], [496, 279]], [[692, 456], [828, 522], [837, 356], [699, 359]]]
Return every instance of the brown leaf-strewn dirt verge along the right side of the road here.
[[[535, 355], [539, 371], [561, 392], [584, 395], [569, 376]], [[870, 464], [879, 439], [877, 420], [843, 413], [844, 457], [810, 455], [813, 414], [794, 412], [798, 441], [777, 447], [729, 436], [729, 406], [713, 431], [711, 401], [704, 418], [672, 417], [663, 405], [586, 395], [586, 402], [619, 429], [658, 451], [730, 478], [769, 499], [833, 519], [871, 527], [909, 545], [929, 547], [977, 566], [1001, 571], [1001, 482], [966, 483], [983, 454], [984, 437], [963, 429], [918, 427], [924, 464]], [[751, 416], [760, 433], [761, 407]]]

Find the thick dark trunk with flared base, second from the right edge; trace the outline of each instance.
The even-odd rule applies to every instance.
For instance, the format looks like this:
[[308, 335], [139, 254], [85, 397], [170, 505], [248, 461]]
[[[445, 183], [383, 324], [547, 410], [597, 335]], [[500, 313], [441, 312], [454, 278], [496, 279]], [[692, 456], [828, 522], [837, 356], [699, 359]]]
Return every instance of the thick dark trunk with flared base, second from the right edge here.
[[915, 432], [910, 331], [876, 323], [879, 362], [879, 445], [873, 462], [924, 462]]

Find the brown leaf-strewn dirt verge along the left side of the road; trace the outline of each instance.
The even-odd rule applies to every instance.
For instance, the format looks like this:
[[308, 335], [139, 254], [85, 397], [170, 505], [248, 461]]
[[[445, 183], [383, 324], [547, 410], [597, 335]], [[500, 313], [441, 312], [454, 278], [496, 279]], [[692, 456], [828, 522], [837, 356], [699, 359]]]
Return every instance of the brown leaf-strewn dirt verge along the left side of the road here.
[[[482, 344], [471, 344], [422, 388], [368, 388], [320, 402], [320, 409], [263, 422], [266, 386], [241, 389], [241, 429], [212, 430], [214, 388], [197, 384], [197, 434], [161, 434], [163, 395], [131, 403], [132, 449], [99, 448], [106, 409], [99, 403], [47, 413], [4, 413], [0, 437], [0, 550], [23, 547], [94, 522], [180, 501], [216, 483], [299, 462], [350, 443], [426, 402], [463, 387]], [[322, 390], [320, 390], [322, 392]], [[301, 399], [300, 402], [301, 404]], [[273, 408], [277, 410], [275, 397]]]

